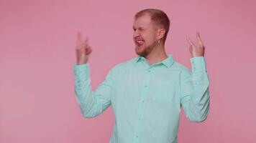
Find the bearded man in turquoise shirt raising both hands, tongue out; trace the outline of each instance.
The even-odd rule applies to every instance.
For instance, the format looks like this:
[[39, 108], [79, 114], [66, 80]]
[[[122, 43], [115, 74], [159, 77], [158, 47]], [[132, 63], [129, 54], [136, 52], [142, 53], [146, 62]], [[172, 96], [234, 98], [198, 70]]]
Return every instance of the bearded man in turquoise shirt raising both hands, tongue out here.
[[91, 46], [78, 34], [76, 97], [86, 118], [96, 117], [112, 105], [115, 115], [110, 143], [178, 142], [180, 108], [192, 122], [203, 122], [209, 112], [209, 77], [204, 44], [190, 44], [192, 72], [165, 54], [170, 21], [158, 9], [134, 16], [134, 43], [138, 56], [117, 64], [93, 92], [88, 57]]

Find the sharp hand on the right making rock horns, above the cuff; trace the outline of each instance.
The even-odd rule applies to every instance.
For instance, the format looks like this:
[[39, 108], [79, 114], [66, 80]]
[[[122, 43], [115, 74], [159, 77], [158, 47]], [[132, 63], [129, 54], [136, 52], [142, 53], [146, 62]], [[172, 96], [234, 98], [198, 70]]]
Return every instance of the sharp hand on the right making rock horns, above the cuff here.
[[205, 46], [203, 42], [201, 41], [199, 32], [196, 32], [196, 37], [198, 39], [198, 45], [194, 44], [189, 36], [187, 36], [188, 44], [189, 44], [189, 51], [191, 52], [191, 57], [195, 56], [204, 56], [204, 49]]

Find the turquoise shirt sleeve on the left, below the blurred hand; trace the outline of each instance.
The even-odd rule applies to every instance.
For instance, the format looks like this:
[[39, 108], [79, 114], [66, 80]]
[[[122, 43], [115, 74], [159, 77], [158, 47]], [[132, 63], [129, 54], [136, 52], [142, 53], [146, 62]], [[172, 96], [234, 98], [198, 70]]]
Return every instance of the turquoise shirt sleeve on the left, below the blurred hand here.
[[113, 69], [106, 78], [93, 91], [89, 64], [74, 65], [76, 99], [80, 105], [81, 113], [86, 118], [93, 118], [104, 112], [111, 105], [111, 89], [113, 86]]

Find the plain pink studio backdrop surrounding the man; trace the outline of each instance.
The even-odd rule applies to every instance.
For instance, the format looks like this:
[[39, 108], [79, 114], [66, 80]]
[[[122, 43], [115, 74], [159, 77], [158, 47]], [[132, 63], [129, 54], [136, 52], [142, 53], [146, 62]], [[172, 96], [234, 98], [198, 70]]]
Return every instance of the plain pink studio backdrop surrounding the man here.
[[256, 1], [0, 1], [0, 142], [109, 142], [114, 114], [82, 117], [74, 94], [76, 32], [93, 48], [93, 89], [109, 69], [137, 56], [133, 16], [162, 9], [165, 49], [190, 66], [186, 35], [206, 45], [211, 110], [196, 124], [182, 112], [178, 140], [256, 142]]

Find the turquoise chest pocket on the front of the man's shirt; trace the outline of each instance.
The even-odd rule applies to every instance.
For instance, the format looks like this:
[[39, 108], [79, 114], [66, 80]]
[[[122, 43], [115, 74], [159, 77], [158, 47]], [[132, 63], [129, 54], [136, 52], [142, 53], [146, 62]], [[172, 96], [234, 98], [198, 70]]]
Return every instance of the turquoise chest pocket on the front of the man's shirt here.
[[155, 102], [171, 102], [175, 96], [175, 84], [172, 82], [156, 82], [152, 84], [151, 96]]

